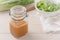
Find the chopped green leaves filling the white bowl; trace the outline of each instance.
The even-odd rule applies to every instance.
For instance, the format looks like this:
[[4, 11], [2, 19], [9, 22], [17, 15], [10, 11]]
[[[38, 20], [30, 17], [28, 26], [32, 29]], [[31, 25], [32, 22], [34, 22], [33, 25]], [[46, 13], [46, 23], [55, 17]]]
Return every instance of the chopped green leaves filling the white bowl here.
[[53, 12], [57, 11], [59, 9], [59, 6], [51, 2], [40, 1], [37, 3], [37, 8], [42, 11]]

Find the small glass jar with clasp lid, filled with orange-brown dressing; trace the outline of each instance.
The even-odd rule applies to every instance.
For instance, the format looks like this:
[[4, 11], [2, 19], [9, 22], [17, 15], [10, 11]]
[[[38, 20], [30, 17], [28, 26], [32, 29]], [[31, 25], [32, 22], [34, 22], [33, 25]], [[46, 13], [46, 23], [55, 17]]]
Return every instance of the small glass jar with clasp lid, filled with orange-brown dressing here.
[[10, 9], [10, 32], [19, 38], [28, 32], [28, 23], [24, 20], [27, 16], [26, 8], [20, 5], [14, 6]]

